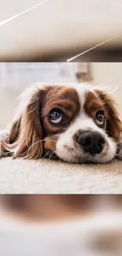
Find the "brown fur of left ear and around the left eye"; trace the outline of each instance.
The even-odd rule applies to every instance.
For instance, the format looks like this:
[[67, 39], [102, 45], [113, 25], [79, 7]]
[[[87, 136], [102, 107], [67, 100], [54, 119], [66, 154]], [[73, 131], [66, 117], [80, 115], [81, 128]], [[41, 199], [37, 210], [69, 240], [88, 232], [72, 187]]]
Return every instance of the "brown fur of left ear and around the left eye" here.
[[[53, 126], [48, 113], [54, 107], [67, 115], [65, 125]], [[9, 132], [9, 143], [2, 143], [3, 150], [13, 152], [13, 158], [40, 158], [54, 152], [58, 135], [79, 112], [79, 98], [72, 87], [46, 86], [36, 90], [24, 112], [14, 121]], [[50, 156], [49, 154], [49, 156]], [[53, 154], [55, 157], [55, 155]]]

